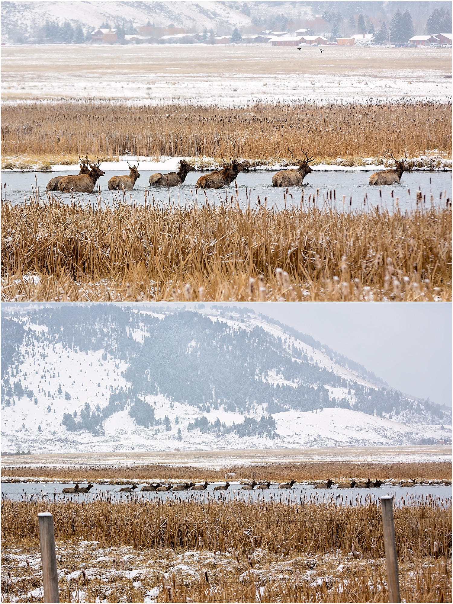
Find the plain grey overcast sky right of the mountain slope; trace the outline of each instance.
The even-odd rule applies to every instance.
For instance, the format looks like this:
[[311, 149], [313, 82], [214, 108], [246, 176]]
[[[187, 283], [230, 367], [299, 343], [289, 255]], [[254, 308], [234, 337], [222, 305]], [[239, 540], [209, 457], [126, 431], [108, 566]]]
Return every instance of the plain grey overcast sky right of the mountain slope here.
[[452, 406], [451, 303], [234, 302], [231, 306], [248, 306], [313, 336], [406, 394]]

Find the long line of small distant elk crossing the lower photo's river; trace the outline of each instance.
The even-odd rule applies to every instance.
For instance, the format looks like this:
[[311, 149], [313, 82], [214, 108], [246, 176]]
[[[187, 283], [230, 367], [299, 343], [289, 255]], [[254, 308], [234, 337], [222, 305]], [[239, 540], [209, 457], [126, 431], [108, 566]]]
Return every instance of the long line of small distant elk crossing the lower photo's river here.
[[[334, 483], [333, 480], [330, 480], [330, 478], [327, 478], [326, 481], [321, 481], [321, 482], [317, 482], [314, 484], [314, 488], [315, 489], [330, 489], [330, 487], [336, 485], [336, 487], [338, 489], [370, 489], [370, 488], [377, 488], [380, 487], [381, 484], [383, 484], [384, 481], [379, 480], [377, 478], [375, 478], [374, 480], [371, 480], [370, 478], [367, 478], [367, 480], [359, 480], [359, 479], [355, 479], [355, 478], [351, 478], [350, 480], [344, 480], [344, 481], [338, 481], [336, 483]], [[294, 485], [297, 484], [297, 482], [295, 480], [291, 480], [289, 483], [281, 483], [281, 484], [276, 484], [275, 487], [277, 489], [293, 489]], [[415, 486], [416, 481], [414, 479], [412, 480], [402, 480], [398, 483], [398, 486], [402, 486], [402, 487], [413, 487]], [[62, 493], [65, 494], [74, 494], [77, 495], [79, 493], [89, 493], [89, 490], [93, 488], [93, 484], [88, 483], [88, 486], [86, 487], [80, 487], [79, 483], [76, 483], [76, 486], [74, 487], [66, 487], [65, 489], [62, 490]], [[202, 491], [202, 490], [207, 490], [208, 486], [210, 486], [210, 483], [208, 483], [208, 481], [206, 480], [203, 484], [195, 484], [192, 481], [190, 481], [189, 483], [184, 483], [184, 484], [171, 484], [170, 481], [167, 484], [162, 484], [162, 483], [154, 483], [154, 484], [145, 484], [143, 487], [141, 487], [141, 492], [162, 492], [162, 491], [187, 491], [187, 490], [195, 490], [195, 491]], [[214, 486], [214, 491], [219, 491], [219, 490], [228, 490], [228, 487], [230, 487], [231, 484], [226, 481], [225, 484], [218, 484], [217, 486]], [[257, 489], [271, 489], [272, 483], [270, 481], [262, 481], [260, 483], [257, 483], [255, 480], [252, 480], [251, 483], [248, 484], [242, 484], [241, 486], [239, 486], [239, 490], [257, 490]], [[119, 490], [120, 493], [133, 493], [135, 491], [135, 489], [138, 489], [137, 484], [132, 484], [130, 487], [121, 487], [121, 489]]]

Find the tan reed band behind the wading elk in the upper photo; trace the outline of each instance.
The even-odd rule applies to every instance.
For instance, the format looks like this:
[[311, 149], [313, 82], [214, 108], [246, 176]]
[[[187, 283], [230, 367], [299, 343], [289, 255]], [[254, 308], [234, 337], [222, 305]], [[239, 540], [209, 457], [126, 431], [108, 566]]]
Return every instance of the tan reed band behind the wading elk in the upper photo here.
[[2, 155], [203, 155], [252, 159], [308, 150], [317, 158], [451, 157], [451, 103], [257, 103], [246, 108], [108, 101], [4, 103]]

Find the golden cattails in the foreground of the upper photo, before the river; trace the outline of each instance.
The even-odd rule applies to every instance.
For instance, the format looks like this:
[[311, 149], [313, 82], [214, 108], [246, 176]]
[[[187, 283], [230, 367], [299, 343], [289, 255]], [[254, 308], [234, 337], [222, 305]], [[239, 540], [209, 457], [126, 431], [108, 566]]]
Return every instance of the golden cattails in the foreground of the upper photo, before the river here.
[[233, 195], [220, 207], [4, 202], [2, 300], [451, 300], [451, 204], [341, 212], [321, 195], [321, 210], [282, 211]]

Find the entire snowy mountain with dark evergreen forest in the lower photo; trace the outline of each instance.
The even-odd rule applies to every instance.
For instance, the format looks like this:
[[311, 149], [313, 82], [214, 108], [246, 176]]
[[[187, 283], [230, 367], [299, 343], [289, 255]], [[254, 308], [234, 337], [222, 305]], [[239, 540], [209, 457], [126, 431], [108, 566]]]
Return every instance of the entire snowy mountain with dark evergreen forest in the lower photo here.
[[3, 307], [2, 451], [451, 439], [445, 408], [249, 309], [143, 308]]

